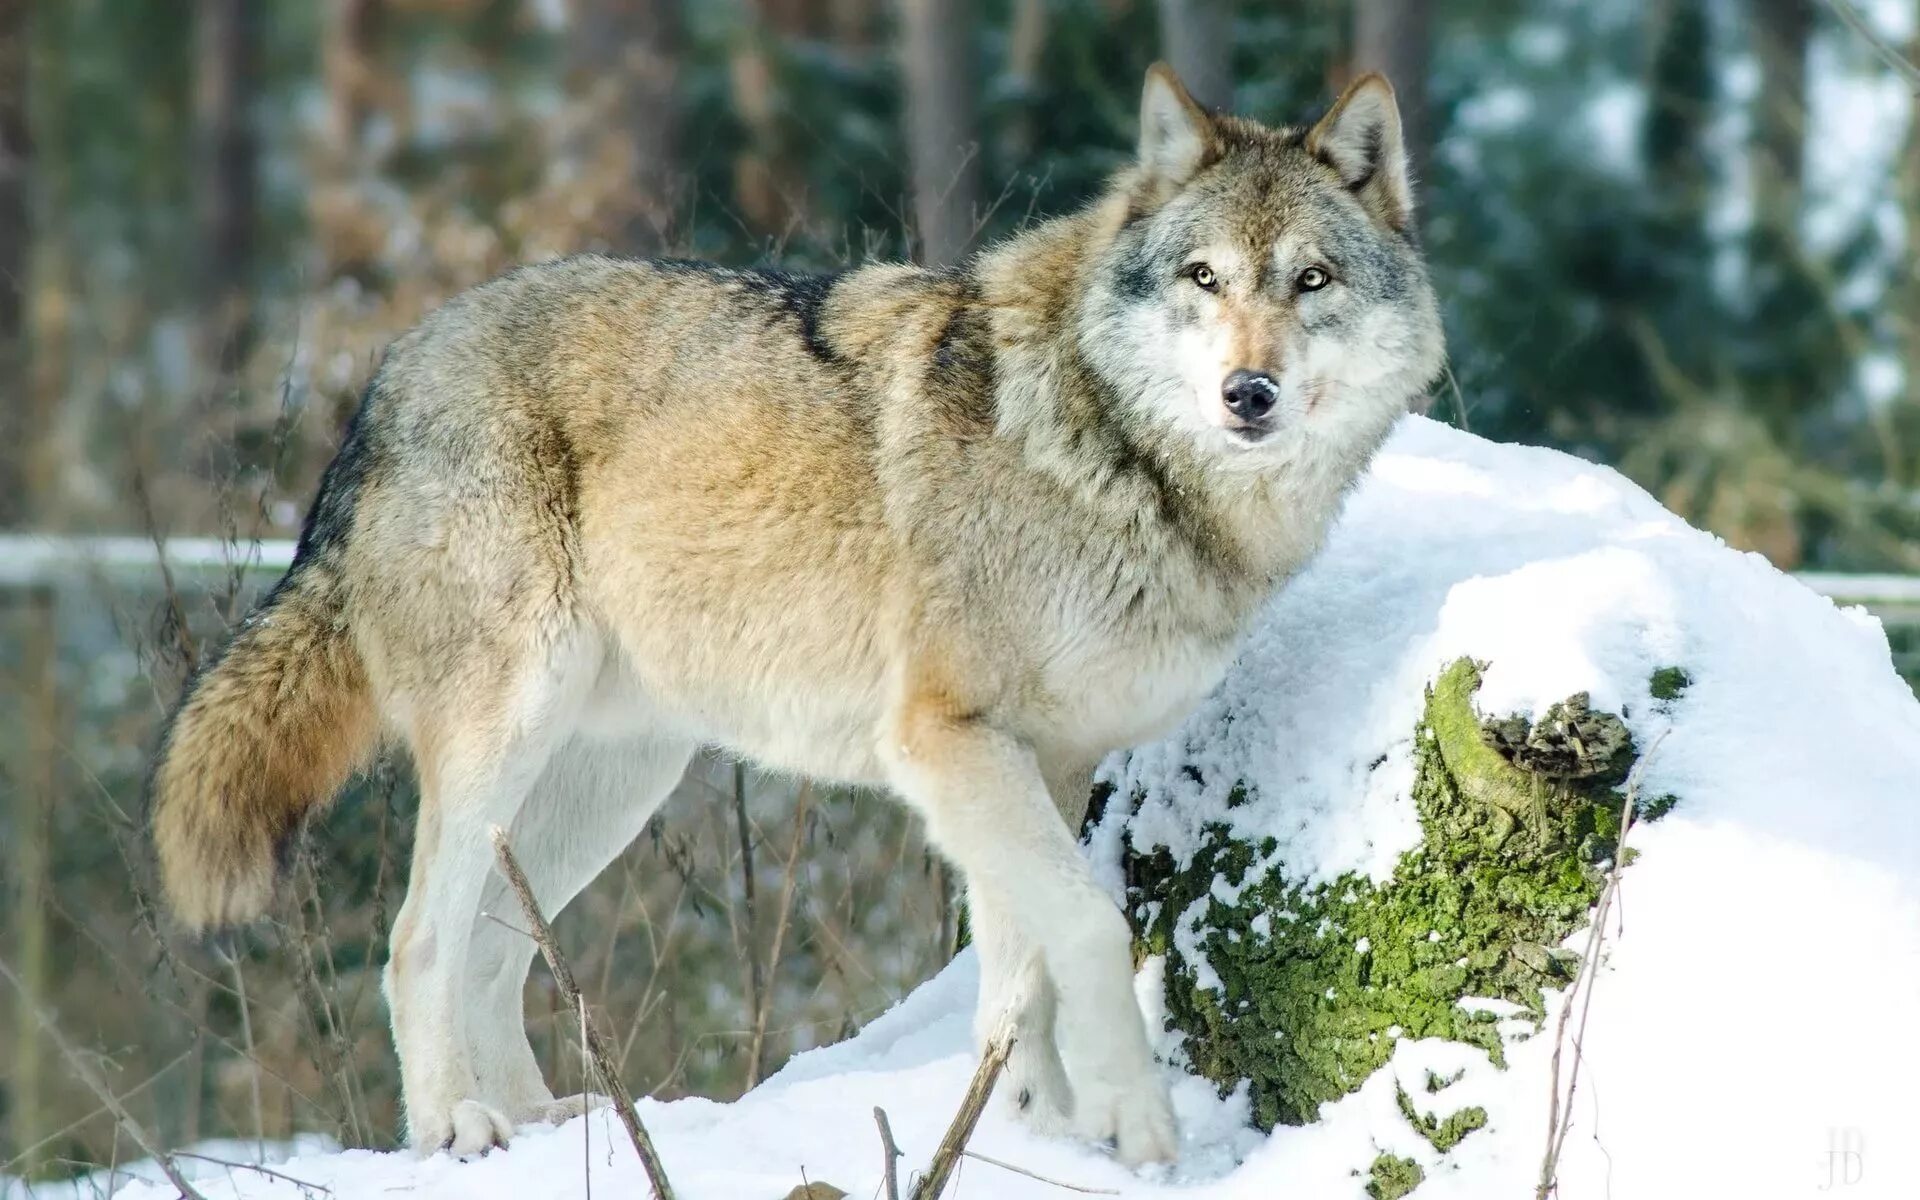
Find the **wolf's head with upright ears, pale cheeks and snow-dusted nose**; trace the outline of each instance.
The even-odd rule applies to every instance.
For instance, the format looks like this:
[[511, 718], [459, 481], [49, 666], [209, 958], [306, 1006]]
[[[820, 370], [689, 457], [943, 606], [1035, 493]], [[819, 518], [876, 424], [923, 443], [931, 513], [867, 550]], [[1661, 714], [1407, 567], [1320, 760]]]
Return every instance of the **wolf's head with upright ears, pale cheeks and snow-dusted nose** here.
[[1365, 455], [1440, 371], [1382, 77], [1302, 131], [1208, 113], [1154, 65], [1114, 186], [1079, 342], [1129, 417], [1233, 467]]

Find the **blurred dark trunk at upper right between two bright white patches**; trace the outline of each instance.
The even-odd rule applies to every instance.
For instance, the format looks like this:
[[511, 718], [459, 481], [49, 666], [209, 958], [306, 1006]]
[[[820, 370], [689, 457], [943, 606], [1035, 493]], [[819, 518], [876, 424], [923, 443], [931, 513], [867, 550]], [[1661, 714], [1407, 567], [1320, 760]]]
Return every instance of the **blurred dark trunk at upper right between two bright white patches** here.
[[1763, 234], [1791, 238], [1807, 157], [1807, 42], [1814, 0], [1755, 0], [1761, 96], [1753, 131], [1755, 209]]

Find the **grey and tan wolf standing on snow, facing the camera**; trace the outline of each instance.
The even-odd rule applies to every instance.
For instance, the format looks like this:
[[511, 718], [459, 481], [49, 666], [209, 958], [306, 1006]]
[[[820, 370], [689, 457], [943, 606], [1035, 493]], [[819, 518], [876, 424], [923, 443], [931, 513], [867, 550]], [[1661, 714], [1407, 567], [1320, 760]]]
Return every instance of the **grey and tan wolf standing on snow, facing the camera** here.
[[1311, 127], [1146, 75], [1135, 161], [956, 269], [570, 257], [392, 344], [294, 564], [184, 689], [150, 783], [180, 925], [261, 916], [382, 745], [420, 787], [384, 973], [407, 1137], [582, 1112], [528, 1046], [547, 912], [701, 747], [883, 785], [962, 872], [1002, 1092], [1177, 1154], [1096, 764], [1177, 726], [1444, 357], [1394, 92]]

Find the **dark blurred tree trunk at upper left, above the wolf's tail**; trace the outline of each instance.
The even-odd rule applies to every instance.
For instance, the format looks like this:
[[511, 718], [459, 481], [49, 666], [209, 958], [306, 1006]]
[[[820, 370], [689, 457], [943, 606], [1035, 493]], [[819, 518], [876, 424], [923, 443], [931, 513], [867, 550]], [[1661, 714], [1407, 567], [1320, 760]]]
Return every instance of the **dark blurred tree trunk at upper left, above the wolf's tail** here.
[[252, 0], [200, 0], [194, 21], [202, 365], [225, 378], [246, 357], [252, 338], [248, 263], [259, 144], [248, 109], [259, 58], [259, 6]]

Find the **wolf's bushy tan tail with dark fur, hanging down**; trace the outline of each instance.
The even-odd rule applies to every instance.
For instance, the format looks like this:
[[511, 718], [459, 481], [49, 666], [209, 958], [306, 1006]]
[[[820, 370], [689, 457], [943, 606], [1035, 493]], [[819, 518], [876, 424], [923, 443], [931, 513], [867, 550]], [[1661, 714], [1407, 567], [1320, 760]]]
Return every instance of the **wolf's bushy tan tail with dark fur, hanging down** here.
[[198, 933], [259, 918], [301, 820], [376, 739], [340, 582], [296, 561], [188, 682], [154, 762], [150, 829], [179, 922]]

